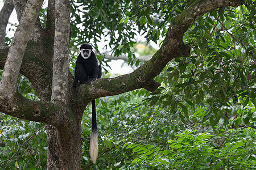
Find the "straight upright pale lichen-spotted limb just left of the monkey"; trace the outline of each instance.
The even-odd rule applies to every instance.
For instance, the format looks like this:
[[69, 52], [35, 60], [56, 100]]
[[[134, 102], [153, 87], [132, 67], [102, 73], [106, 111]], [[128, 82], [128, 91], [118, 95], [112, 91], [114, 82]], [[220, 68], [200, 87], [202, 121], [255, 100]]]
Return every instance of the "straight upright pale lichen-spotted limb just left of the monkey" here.
[[55, 1], [55, 39], [53, 55], [52, 97], [67, 104], [70, 5], [68, 0]]

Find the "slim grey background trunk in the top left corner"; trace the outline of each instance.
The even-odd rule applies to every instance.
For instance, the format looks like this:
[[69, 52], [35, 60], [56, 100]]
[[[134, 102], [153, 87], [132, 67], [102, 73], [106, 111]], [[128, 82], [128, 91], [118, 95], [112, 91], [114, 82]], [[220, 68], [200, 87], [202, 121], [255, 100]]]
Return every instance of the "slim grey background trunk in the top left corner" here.
[[13, 12], [13, 0], [6, 0], [0, 11], [0, 45], [5, 45], [5, 31], [11, 12]]

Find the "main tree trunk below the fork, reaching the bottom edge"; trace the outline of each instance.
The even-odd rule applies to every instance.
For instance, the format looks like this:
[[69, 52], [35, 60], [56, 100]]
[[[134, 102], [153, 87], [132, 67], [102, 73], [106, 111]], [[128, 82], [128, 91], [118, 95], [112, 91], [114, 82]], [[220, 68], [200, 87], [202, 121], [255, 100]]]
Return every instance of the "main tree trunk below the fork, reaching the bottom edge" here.
[[80, 122], [71, 131], [47, 125], [47, 169], [80, 169]]

